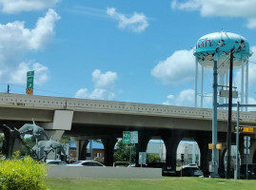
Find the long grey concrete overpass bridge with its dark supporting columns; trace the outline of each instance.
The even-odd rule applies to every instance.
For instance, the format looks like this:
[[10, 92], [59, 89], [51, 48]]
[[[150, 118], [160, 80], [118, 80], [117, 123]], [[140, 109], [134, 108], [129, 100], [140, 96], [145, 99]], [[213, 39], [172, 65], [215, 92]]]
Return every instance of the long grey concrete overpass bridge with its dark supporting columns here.
[[[180, 141], [192, 138], [201, 151], [201, 165], [207, 168], [211, 142], [211, 109], [160, 104], [136, 104], [87, 99], [57, 98], [0, 93], [0, 124], [21, 127], [24, 123], [35, 122], [49, 131], [58, 140], [66, 133], [77, 147], [77, 159], [85, 159], [85, 147], [90, 139], [101, 139], [105, 146], [105, 163], [111, 165], [113, 148], [123, 131], [137, 130], [139, 152], [145, 152], [148, 141], [161, 138], [167, 147], [167, 164], [175, 168], [176, 151]], [[218, 140], [223, 144], [220, 151], [220, 167], [226, 151], [227, 111], [218, 110]], [[232, 125], [236, 124], [233, 111]], [[256, 113], [242, 112], [240, 123], [256, 125]], [[244, 134], [240, 136], [240, 152], [244, 153]], [[256, 137], [251, 134], [249, 162], [256, 162]], [[235, 135], [232, 135], [234, 144]], [[244, 161], [242, 156], [242, 161]]]

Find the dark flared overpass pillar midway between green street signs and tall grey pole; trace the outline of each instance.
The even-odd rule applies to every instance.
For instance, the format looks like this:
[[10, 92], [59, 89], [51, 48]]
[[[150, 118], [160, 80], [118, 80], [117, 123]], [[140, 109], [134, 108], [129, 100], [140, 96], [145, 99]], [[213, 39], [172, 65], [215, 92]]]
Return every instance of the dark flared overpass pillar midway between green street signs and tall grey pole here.
[[172, 132], [170, 136], [163, 136], [163, 141], [165, 142], [167, 148], [167, 166], [171, 166], [172, 171], [176, 171], [177, 164], [177, 148], [179, 143], [183, 139], [183, 134], [178, 132]]

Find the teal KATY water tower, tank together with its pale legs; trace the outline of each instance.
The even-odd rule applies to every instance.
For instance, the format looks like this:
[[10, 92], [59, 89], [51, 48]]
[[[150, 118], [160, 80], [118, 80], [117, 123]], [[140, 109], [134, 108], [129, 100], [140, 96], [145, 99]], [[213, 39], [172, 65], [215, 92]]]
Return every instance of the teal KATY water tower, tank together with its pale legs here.
[[[205, 67], [213, 68], [213, 61], [217, 61], [218, 68], [218, 85], [225, 87], [228, 84], [229, 52], [235, 47], [234, 68], [241, 67], [241, 86], [240, 102], [247, 104], [248, 100], [248, 57], [250, 56], [249, 45], [243, 36], [226, 31], [209, 33], [201, 37], [196, 44], [194, 56], [196, 57], [196, 74], [195, 74], [195, 100], [194, 106], [198, 106], [198, 96], [201, 104], [204, 104], [204, 78]], [[198, 92], [199, 66], [201, 65], [201, 90]], [[223, 104], [225, 98], [219, 98], [219, 103]]]

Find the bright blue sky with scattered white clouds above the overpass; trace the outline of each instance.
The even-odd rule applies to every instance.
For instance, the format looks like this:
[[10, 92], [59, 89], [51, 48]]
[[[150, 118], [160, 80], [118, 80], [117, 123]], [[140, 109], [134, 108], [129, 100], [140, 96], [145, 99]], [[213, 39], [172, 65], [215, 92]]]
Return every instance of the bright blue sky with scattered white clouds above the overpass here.
[[[191, 47], [225, 30], [256, 51], [255, 8], [251, 0], [0, 0], [0, 91], [25, 93], [35, 70], [35, 95], [193, 106]], [[254, 54], [250, 62], [255, 104]]]

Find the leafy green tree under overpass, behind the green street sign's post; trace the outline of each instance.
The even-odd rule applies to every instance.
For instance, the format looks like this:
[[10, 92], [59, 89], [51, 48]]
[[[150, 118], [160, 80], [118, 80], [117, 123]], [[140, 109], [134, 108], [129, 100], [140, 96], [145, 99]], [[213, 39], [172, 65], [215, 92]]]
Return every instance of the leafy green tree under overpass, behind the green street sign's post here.
[[[116, 144], [116, 151], [114, 153], [114, 161], [129, 161], [129, 152], [130, 147], [128, 144], [124, 143], [123, 140], [117, 142]], [[136, 151], [135, 147], [131, 147], [131, 162], [135, 162], [136, 158]]]

